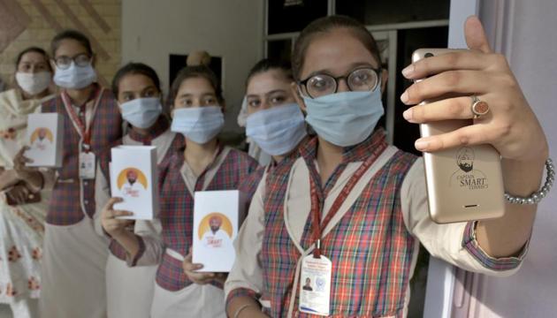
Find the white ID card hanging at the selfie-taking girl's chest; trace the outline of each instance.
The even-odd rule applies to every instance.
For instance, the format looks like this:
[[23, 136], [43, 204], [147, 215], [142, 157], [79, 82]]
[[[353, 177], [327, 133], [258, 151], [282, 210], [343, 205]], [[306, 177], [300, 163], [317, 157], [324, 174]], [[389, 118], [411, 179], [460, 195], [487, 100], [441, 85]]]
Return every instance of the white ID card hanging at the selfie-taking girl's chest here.
[[300, 306], [302, 313], [329, 315], [332, 262], [309, 254], [301, 261]]

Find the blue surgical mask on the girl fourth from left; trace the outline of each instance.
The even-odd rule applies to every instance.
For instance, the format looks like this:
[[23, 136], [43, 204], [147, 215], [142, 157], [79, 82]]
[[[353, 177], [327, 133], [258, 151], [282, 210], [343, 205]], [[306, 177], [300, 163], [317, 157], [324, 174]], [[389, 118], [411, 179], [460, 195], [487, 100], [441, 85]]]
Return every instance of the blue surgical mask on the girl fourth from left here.
[[219, 106], [191, 107], [174, 110], [171, 130], [204, 144], [215, 138], [224, 125], [225, 116]]

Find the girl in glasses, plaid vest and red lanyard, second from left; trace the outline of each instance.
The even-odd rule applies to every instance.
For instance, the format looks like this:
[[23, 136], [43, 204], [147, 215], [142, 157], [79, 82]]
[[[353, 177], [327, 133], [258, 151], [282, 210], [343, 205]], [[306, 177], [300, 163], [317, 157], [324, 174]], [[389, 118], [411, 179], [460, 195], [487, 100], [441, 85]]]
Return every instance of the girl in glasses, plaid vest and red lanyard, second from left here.
[[39, 305], [43, 318], [104, 317], [108, 250], [93, 223], [95, 162], [103, 148], [121, 138], [121, 117], [111, 91], [96, 83], [95, 55], [85, 35], [63, 31], [51, 49], [61, 93], [44, 102], [42, 112], [64, 117], [63, 166], [27, 178], [34, 186], [52, 187]]

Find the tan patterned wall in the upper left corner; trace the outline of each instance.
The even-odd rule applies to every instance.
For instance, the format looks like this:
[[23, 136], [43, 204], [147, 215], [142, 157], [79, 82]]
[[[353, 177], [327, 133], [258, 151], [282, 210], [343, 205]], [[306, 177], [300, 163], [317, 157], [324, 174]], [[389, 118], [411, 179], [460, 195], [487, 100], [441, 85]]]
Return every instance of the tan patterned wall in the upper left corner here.
[[96, 42], [100, 81], [110, 82], [120, 63], [120, 9], [120, 0], [0, 0], [0, 76], [11, 80], [22, 49], [49, 51], [57, 31], [74, 28]]

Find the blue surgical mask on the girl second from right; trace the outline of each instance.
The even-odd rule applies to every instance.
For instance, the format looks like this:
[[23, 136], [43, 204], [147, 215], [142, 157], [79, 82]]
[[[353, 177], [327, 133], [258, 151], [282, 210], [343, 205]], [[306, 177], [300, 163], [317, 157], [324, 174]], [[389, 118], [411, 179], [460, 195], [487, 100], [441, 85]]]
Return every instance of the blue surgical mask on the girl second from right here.
[[285, 155], [306, 136], [300, 106], [287, 103], [248, 116], [246, 135], [269, 155]]

